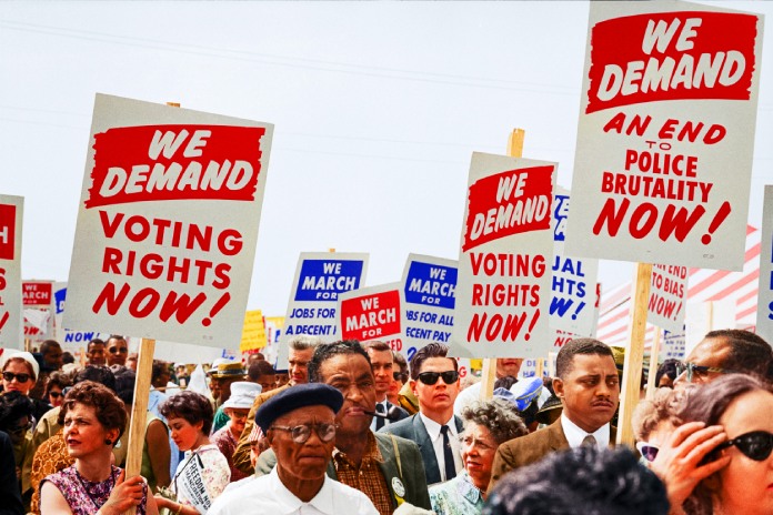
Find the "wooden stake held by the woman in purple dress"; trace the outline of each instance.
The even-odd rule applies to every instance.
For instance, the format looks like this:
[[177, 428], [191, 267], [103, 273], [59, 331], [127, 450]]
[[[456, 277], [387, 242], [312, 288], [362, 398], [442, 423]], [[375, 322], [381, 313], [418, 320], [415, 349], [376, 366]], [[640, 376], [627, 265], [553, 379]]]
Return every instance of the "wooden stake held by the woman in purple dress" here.
[[[126, 477], [140, 474], [142, 468], [142, 446], [144, 445], [145, 423], [148, 417], [148, 398], [150, 397], [150, 376], [153, 371], [153, 352], [155, 340], [142, 339], [137, 356], [137, 382], [134, 383], [134, 404], [131, 407], [129, 425], [129, 448], [127, 450]], [[126, 513], [134, 515], [137, 507]]]

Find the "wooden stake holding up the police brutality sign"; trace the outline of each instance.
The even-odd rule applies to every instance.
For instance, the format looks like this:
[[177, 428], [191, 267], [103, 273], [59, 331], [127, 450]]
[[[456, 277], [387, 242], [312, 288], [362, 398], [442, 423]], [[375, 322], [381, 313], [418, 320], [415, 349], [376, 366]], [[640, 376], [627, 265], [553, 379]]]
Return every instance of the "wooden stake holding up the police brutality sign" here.
[[623, 391], [620, 394], [620, 415], [618, 416], [618, 444], [626, 444], [631, 447], [634, 443], [631, 415], [639, 403], [642, 382], [650, 281], [652, 281], [652, 263], [636, 263], [629, 316], [631, 320], [631, 340], [625, 350]]

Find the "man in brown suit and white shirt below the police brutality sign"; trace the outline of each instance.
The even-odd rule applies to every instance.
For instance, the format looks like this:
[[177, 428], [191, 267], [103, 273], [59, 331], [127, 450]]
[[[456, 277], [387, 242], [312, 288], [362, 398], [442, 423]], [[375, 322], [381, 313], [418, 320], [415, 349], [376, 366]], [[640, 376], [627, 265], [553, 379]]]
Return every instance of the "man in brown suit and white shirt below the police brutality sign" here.
[[508, 472], [551, 452], [614, 445], [610, 421], [620, 401], [620, 378], [612, 350], [598, 340], [574, 339], [559, 351], [555, 375], [553, 388], [563, 404], [561, 417], [544, 430], [500, 445], [489, 492]]

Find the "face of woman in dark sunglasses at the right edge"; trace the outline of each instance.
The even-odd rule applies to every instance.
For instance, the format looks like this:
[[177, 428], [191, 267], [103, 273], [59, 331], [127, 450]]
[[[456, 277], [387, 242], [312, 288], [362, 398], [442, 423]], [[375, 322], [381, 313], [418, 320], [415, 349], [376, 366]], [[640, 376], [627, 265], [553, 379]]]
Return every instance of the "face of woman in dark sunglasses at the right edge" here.
[[[753, 431], [773, 433], [773, 394], [750, 392], [733, 401], [720, 418], [727, 438]], [[730, 464], [719, 472], [723, 513], [773, 513], [773, 453], [762, 462], [745, 456], [736, 446], [723, 451]]]

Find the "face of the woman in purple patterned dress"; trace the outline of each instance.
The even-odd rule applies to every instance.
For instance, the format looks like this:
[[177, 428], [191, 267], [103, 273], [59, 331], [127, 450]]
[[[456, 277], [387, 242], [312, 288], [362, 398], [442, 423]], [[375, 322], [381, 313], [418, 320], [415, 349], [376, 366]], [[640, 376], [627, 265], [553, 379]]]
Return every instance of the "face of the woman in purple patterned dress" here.
[[83, 458], [100, 451], [111, 451], [118, 433], [118, 430], [104, 428], [93, 406], [76, 403], [64, 415], [64, 442], [71, 457]]

